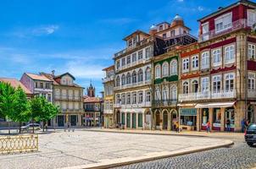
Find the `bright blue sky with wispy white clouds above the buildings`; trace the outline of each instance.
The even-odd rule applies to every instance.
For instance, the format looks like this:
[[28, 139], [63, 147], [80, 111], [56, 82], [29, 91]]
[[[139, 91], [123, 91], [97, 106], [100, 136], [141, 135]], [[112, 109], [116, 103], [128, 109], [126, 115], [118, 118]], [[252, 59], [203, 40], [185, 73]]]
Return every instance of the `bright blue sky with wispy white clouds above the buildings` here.
[[113, 64], [134, 30], [170, 22], [175, 14], [198, 35], [197, 19], [234, 0], [1, 0], [0, 77], [70, 72], [103, 90], [102, 69]]

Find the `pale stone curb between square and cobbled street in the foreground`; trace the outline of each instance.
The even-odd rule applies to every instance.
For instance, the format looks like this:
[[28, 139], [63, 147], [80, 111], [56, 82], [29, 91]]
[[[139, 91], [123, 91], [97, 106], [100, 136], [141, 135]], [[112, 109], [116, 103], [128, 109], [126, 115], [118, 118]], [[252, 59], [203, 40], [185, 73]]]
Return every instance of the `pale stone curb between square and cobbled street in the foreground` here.
[[158, 152], [158, 153], [154, 152], [154, 153], [149, 153], [139, 157], [124, 157], [124, 158], [118, 158], [114, 160], [105, 159], [98, 163], [92, 163], [92, 164], [81, 165], [81, 166], [68, 166], [62, 169], [103, 169], [103, 168], [111, 168], [116, 166], [126, 166], [126, 165], [131, 165], [139, 162], [154, 161], [154, 160], [174, 157], [178, 155], [192, 154], [192, 153], [201, 152], [205, 150], [213, 150], [213, 149], [219, 149], [224, 147], [230, 147], [233, 144], [234, 144], [233, 141], [225, 140], [224, 144], [211, 145], [203, 148], [198, 147], [198, 149], [195, 149], [193, 147], [193, 148], [186, 148], [182, 150], [175, 150], [173, 152], [170, 152], [170, 151], [164, 151], [164, 152]]

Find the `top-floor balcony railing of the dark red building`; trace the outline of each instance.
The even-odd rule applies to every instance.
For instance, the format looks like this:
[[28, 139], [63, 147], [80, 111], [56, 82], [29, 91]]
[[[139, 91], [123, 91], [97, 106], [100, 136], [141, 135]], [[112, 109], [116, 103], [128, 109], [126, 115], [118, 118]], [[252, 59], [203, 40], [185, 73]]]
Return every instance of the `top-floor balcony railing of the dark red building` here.
[[213, 39], [215, 37], [218, 37], [220, 35], [224, 35], [227, 33], [231, 33], [232, 31], [235, 30], [240, 30], [242, 28], [250, 28], [251, 26], [248, 25], [248, 20], [247, 19], [239, 19], [234, 22], [232, 22], [231, 27], [225, 30], [210, 30], [209, 32], [199, 35], [199, 42], [202, 41], [208, 41], [210, 39]]

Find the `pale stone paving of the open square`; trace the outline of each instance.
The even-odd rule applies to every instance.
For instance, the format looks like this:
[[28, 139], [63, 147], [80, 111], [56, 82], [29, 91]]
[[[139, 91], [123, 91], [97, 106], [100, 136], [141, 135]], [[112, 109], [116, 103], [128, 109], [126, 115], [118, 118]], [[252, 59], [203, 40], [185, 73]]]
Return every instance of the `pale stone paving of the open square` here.
[[39, 152], [0, 155], [0, 168], [51, 169], [80, 166], [97, 163], [103, 159], [136, 157], [152, 152], [181, 150], [186, 147], [202, 148], [221, 143], [221, 139], [198, 137], [114, 134], [78, 129], [65, 133], [58, 130], [52, 134], [39, 134]]

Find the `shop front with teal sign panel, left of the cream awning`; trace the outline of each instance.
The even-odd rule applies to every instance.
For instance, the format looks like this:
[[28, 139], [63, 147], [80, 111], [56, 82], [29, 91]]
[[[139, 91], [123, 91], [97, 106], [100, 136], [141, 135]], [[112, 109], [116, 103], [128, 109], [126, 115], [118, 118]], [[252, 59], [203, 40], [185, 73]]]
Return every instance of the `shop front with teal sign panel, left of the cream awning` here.
[[182, 130], [197, 130], [196, 108], [180, 108], [180, 126]]

